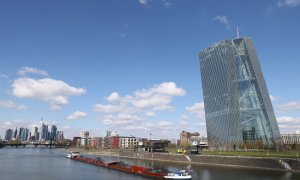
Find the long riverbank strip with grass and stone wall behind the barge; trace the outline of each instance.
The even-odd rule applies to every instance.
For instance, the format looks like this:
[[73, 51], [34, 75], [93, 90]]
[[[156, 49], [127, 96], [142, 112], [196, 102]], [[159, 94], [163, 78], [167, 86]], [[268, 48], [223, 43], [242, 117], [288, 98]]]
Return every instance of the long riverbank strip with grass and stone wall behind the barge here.
[[243, 168], [259, 168], [279, 171], [300, 172], [300, 159], [278, 157], [245, 157], [221, 155], [183, 155], [172, 153], [146, 153], [133, 151], [91, 151], [82, 150], [83, 154], [98, 156], [116, 156], [124, 158], [167, 161], [176, 163], [203, 164], [211, 166], [230, 166]]

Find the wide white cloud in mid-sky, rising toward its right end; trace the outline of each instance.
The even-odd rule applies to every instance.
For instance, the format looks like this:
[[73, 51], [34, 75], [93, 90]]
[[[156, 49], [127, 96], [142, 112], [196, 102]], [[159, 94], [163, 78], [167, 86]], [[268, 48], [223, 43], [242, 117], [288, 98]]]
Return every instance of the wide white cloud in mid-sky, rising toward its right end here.
[[175, 96], [184, 96], [183, 88], [177, 87], [174, 82], [154, 84], [148, 89], [137, 90], [133, 95], [120, 96], [113, 92], [106, 99], [114, 104], [96, 104], [94, 110], [97, 112], [136, 112], [136, 111], [163, 111], [172, 110], [170, 105]]

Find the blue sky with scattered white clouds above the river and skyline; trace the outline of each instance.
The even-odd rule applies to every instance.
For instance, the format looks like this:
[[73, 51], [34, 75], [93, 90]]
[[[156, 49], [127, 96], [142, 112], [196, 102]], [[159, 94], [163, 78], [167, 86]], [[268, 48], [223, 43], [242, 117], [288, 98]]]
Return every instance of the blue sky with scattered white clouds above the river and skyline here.
[[198, 54], [251, 37], [282, 133], [300, 131], [300, 0], [0, 1], [0, 136], [56, 124], [206, 135]]

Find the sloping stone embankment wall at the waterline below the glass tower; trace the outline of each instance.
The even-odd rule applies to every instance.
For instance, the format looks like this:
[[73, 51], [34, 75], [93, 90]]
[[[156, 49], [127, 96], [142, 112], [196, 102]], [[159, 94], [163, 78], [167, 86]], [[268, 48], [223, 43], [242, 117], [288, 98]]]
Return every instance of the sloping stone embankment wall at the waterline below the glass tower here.
[[[168, 153], [136, 153], [136, 152], [120, 152], [120, 156], [148, 159], [157, 161], [183, 162], [188, 163], [189, 158], [182, 154]], [[260, 169], [286, 170], [279, 162], [278, 158], [259, 158], [259, 157], [238, 157], [238, 156], [206, 156], [206, 155], [190, 155], [191, 163], [236, 166]], [[300, 171], [300, 160], [282, 159], [290, 165], [292, 171]]]

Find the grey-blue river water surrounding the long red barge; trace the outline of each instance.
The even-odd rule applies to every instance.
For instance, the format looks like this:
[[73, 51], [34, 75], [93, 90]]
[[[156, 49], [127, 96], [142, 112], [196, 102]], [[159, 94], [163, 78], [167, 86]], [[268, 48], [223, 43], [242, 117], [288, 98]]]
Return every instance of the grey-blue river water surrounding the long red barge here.
[[[66, 159], [64, 149], [2, 148], [0, 149], [0, 180], [147, 180], [113, 169], [106, 169]], [[104, 160], [124, 161], [128, 164], [165, 167], [176, 171], [185, 168], [182, 163], [167, 163], [103, 156]], [[300, 179], [300, 173], [259, 169], [192, 165], [193, 180], [290, 180]]]

